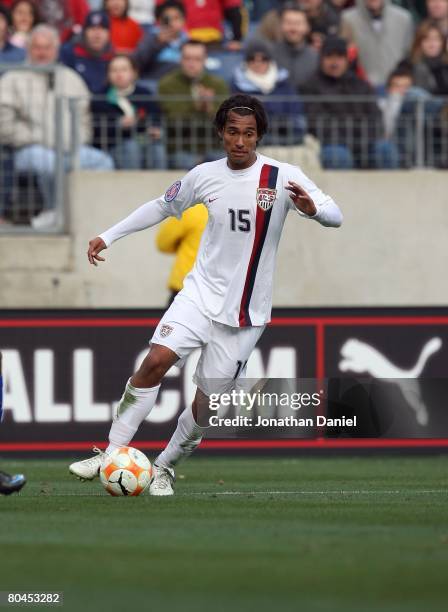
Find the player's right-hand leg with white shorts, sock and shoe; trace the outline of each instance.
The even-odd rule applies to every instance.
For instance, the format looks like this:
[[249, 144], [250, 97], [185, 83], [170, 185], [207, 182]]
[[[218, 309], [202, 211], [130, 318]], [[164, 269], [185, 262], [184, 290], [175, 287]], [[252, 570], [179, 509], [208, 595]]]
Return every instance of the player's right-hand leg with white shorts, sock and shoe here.
[[[210, 340], [202, 351], [194, 376], [198, 385], [195, 400], [179, 416], [174, 434], [154, 462], [156, 468], [164, 468], [174, 476], [174, 466], [199, 446], [205, 431], [200, 426], [204, 423], [201, 417], [208, 412], [209, 395], [229, 391], [245, 375], [246, 363], [263, 331], [264, 326], [233, 328], [212, 323]], [[162, 490], [169, 490], [169, 483], [164, 480]], [[150, 488], [153, 495], [172, 494], [172, 491], [158, 493], [156, 488], [157, 481], [154, 481]]]

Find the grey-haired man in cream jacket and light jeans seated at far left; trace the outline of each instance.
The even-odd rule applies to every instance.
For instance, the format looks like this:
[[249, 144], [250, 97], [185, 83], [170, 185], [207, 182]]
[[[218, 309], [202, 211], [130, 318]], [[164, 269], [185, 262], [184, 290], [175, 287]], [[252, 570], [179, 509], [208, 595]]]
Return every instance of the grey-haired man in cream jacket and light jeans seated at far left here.
[[[58, 56], [57, 30], [39, 25], [31, 32], [28, 46], [30, 67], [54, 67]], [[55, 66], [51, 73], [32, 69], [9, 70], [0, 79], [0, 140], [14, 148], [16, 172], [34, 173], [44, 197], [44, 211], [32, 220], [45, 229], [55, 222], [54, 171], [56, 165], [55, 108], [58, 97], [79, 100], [79, 163], [81, 168], [111, 170], [109, 155], [88, 146], [90, 140], [89, 94], [83, 80], [65, 66]], [[71, 122], [68, 106], [62, 107], [61, 129], [68, 166]]]

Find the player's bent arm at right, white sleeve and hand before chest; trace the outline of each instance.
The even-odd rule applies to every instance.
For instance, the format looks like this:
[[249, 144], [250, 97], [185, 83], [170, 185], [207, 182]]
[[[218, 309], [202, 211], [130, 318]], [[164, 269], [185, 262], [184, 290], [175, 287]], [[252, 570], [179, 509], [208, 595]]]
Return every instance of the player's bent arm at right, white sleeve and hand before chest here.
[[339, 227], [342, 224], [343, 217], [339, 206], [305, 174], [300, 173], [297, 180], [289, 180], [285, 189], [289, 192], [290, 207], [299, 215], [318, 221], [326, 227]]

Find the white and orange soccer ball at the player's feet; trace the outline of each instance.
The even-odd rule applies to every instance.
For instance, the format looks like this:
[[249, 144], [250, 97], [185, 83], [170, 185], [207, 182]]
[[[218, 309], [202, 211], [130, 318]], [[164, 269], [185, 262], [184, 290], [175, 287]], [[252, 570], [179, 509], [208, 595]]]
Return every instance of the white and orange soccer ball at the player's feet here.
[[114, 496], [136, 496], [149, 485], [152, 466], [148, 457], [130, 446], [122, 446], [103, 461], [101, 482]]

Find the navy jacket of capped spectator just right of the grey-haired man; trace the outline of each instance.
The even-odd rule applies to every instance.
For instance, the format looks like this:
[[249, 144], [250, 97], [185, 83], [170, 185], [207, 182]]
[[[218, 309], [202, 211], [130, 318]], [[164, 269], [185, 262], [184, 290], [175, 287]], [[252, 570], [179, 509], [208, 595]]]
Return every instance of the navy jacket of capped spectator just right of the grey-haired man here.
[[84, 79], [92, 93], [101, 93], [106, 86], [107, 67], [113, 55], [111, 46], [102, 53], [92, 54], [82, 40], [77, 40], [62, 45], [59, 59]]

